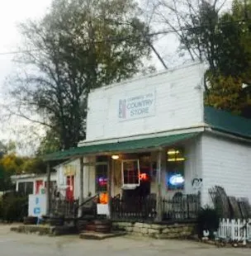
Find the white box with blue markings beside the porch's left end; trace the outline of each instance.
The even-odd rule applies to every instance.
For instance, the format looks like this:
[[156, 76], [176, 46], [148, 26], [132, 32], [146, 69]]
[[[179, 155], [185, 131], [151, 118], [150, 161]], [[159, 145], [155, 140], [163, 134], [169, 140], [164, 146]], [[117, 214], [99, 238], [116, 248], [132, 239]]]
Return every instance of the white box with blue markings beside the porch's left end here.
[[46, 214], [46, 195], [29, 195], [29, 216], [41, 217]]

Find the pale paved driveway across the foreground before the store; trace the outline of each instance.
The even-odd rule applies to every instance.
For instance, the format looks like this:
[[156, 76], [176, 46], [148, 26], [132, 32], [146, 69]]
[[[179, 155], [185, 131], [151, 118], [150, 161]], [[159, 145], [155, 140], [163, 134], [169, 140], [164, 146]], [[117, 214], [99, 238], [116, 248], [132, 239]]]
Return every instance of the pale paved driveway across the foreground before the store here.
[[251, 255], [251, 249], [215, 248], [192, 241], [119, 237], [102, 241], [78, 239], [77, 235], [47, 237], [13, 233], [0, 225], [1, 256], [222, 256]]

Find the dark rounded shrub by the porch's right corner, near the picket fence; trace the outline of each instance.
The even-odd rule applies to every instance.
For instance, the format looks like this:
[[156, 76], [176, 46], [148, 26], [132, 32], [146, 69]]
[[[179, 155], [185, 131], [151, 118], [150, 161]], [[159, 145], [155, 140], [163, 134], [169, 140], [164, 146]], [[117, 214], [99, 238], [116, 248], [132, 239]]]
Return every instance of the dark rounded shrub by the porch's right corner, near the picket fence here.
[[214, 208], [206, 206], [199, 211], [197, 223], [200, 238], [203, 237], [203, 230], [208, 230], [209, 238], [214, 239], [214, 232], [219, 229], [220, 216]]

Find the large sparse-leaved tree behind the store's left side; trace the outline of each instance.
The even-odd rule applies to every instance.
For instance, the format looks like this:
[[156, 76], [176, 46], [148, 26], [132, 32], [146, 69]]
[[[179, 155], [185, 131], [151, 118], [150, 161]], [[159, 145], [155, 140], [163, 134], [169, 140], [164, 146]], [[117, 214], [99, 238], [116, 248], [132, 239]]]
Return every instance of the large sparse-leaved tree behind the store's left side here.
[[60, 149], [76, 146], [88, 93], [144, 69], [148, 32], [133, 0], [54, 0], [41, 21], [21, 24], [24, 69], [11, 80], [12, 113], [46, 126]]

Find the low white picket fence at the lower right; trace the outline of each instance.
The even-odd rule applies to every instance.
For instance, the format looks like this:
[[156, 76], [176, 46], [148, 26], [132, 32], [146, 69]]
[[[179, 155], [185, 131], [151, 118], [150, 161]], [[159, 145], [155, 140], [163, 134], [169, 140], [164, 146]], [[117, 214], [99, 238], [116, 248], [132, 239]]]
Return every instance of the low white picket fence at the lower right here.
[[232, 241], [251, 241], [251, 219], [220, 220], [218, 237], [220, 239], [228, 239]]

